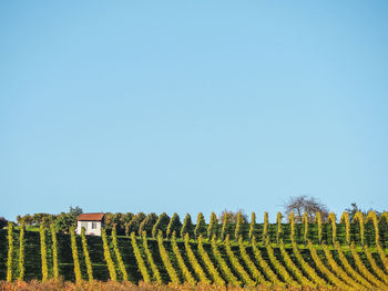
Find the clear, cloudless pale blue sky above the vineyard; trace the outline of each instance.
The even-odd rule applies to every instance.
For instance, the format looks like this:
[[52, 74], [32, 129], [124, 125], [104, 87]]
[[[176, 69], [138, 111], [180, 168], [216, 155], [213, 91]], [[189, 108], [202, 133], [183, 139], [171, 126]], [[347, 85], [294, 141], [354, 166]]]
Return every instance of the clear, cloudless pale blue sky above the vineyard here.
[[387, 1], [1, 1], [0, 216], [388, 209]]

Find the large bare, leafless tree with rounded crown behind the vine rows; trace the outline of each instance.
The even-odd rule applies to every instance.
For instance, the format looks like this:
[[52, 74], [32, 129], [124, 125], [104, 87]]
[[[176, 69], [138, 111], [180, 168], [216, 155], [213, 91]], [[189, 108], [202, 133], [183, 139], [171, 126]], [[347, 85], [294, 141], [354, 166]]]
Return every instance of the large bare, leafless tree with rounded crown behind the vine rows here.
[[323, 222], [327, 221], [329, 210], [326, 205], [321, 204], [315, 197], [306, 195], [289, 197], [288, 201], [283, 205], [286, 216], [295, 214], [295, 221], [302, 222], [303, 215], [307, 212], [308, 221], [314, 222], [316, 212], [320, 212]]

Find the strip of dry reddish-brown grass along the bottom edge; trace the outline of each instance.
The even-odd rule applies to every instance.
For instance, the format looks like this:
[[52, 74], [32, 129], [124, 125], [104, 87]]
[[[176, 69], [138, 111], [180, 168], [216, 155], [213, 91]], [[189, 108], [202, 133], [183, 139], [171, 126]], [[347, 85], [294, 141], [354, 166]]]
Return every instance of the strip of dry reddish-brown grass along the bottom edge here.
[[156, 284], [156, 283], [144, 283], [140, 282], [140, 284], [133, 284], [130, 282], [102, 282], [102, 281], [93, 281], [93, 282], [81, 282], [81, 283], [73, 283], [69, 281], [60, 281], [60, 280], [49, 280], [44, 283], [39, 282], [37, 280], [32, 280], [30, 282], [24, 281], [16, 281], [16, 282], [4, 282], [0, 281], [0, 290], [1, 291], [249, 291], [249, 290], [288, 290], [288, 291], [296, 291], [296, 290], [304, 290], [304, 291], [314, 291], [314, 290], [340, 290], [340, 289], [327, 289], [327, 288], [280, 288], [280, 287], [264, 287], [258, 285], [256, 288], [236, 288], [236, 287], [219, 287], [219, 285], [204, 285], [198, 284], [196, 287], [192, 287], [188, 284]]

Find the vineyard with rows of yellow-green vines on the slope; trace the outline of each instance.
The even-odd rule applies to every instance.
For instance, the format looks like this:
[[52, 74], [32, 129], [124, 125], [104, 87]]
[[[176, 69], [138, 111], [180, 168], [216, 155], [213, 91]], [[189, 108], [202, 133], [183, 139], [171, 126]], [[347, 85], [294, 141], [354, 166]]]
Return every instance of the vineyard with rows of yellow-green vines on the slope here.
[[234, 224], [212, 215], [196, 225], [186, 216], [183, 225], [172, 217], [164, 229], [162, 219], [149, 231], [118, 236], [113, 228], [101, 237], [10, 224], [0, 230], [0, 280], [388, 290], [387, 214], [357, 212], [349, 221], [344, 212], [339, 222], [334, 214], [326, 222], [290, 215], [287, 224], [280, 214], [276, 224], [267, 214], [264, 224], [254, 214], [251, 222], [237, 216]]

